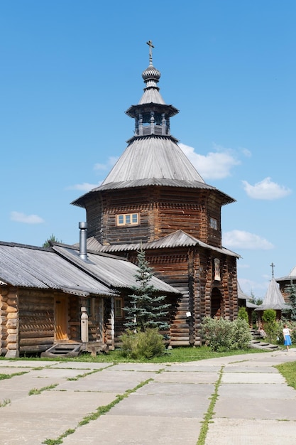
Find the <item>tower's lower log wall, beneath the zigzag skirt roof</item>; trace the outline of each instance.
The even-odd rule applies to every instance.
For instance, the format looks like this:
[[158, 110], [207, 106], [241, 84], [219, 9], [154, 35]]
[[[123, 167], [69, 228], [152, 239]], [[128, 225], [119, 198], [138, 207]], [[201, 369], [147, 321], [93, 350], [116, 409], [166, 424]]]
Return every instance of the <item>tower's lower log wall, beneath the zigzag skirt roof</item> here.
[[[220, 261], [220, 281], [214, 281], [214, 259]], [[136, 252], [129, 254], [136, 262]], [[202, 345], [200, 328], [212, 315], [212, 292], [221, 294], [220, 316], [234, 320], [238, 312], [236, 258], [193, 247], [163, 252], [147, 251], [146, 259], [155, 276], [182, 292], [171, 311], [170, 345]], [[187, 313], [191, 316], [188, 317]]]

